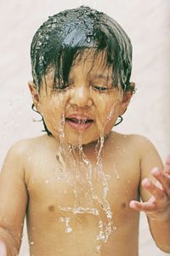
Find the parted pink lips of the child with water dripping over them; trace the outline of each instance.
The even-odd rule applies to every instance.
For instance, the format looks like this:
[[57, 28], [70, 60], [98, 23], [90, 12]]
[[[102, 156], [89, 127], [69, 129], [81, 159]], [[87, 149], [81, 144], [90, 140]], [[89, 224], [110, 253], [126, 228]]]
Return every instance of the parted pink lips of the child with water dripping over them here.
[[76, 130], [86, 130], [93, 125], [94, 119], [87, 115], [71, 114], [65, 118], [65, 122]]

